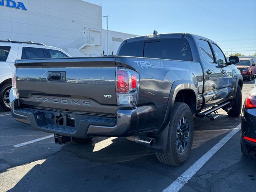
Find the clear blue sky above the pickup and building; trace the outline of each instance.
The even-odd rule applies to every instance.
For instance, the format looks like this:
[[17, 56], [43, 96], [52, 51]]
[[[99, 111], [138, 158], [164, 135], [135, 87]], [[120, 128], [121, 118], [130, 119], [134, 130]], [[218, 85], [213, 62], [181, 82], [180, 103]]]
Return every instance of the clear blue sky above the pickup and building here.
[[[186, 32], [216, 41], [224, 52], [256, 51], [256, 0], [86, 0], [102, 6], [108, 29], [136, 35]], [[106, 29], [106, 18], [102, 18]], [[252, 50], [252, 51], [248, 51]]]

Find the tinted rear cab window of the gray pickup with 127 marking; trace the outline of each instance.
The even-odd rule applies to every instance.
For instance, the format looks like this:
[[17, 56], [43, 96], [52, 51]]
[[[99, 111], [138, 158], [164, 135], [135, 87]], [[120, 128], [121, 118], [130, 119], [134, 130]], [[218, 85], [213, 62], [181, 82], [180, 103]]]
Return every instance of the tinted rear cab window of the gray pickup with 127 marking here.
[[192, 53], [185, 38], [162, 38], [128, 42], [122, 45], [120, 56], [147, 57], [192, 61]]

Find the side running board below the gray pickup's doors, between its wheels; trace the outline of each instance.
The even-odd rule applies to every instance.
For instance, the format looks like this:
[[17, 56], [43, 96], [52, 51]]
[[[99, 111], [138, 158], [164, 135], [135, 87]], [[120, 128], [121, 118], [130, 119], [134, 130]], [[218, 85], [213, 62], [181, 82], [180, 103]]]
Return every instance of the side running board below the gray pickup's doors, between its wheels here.
[[220, 115], [218, 114], [217, 110], [222, 108], [224, 111], [228, 112], [229, 110], [232, 109], [231, 105], [230, 105], [230, 101], [224, 102], [222, 104], [219, 104], [217, 106], [214, 106], [208, 110], [205, 110], [203, 112], [200, 112], [198, 114], [196, 114], [196, 117], [199, 118], [203, 118], [203, 117], [208, 117], [210, 120], [215, 120], [216, 118], [218, 118]]

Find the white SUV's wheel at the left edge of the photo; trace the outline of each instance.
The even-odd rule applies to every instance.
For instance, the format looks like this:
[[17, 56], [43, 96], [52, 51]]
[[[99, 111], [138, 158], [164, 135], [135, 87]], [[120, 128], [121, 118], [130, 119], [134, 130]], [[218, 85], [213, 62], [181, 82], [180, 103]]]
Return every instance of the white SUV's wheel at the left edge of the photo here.
[[0, 87], [0, 106], [6, 110], [10, 110], [10, 90], [12, 88], [11, 82], [6, 82]]

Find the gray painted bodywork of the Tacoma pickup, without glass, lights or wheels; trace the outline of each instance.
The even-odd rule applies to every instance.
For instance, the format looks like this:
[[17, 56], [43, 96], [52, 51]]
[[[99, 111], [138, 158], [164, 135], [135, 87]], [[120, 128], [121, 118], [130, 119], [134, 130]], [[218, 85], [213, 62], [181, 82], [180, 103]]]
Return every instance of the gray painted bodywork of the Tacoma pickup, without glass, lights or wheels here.
[[[75, 136], [129, 136], [140, 132], [164, 130], [180, 90], [194, 92], [195, 97], [191, 97], [196, 104], [194, 113], [234, 97], [238, 81], [242, 80], [240, 71], [234, 65], [207, 63], [202, 58], [197, 40], [208, 39], [191, 34], [161, 34], [161, 38], [186, 38], [190, 44], [193, 61], [130, 56], [17, 60], [16, 84], [20, 98], [18, 101], [12, 100], [14, 118], [19, 120], [18, 114], [26, 116], [24, 111], [15, 112], [16, 108], [20, 107], [37, 108], [43, 114], [51, 112], [57, 115], [63, 112], [73, 116], [101, 116], [116, 120], [116, 125], [86, 123], [85, 127], [83, 126], [85, 132], [77, 135], [77, 131]], [[142, 39], [144, 36], [125, 41]], [[212, 43], [211, 40], [208, 41]], [[117, 106], [117, 66], [139, 73], [137, 102], [133, 108]], [[211, 70], [212, 74], [206, 74], [206, 70]], [[49, 71], [66, 72], [66, 81], [49, 81]], [[105, 98], [104, 95], [112, 97]], [[78, 130], [83, 120], [80, 116], [76, 119], [79, 119], [75, 125]], [[24, 117], [22, 121], [24, 122]], [[72, 136], [55, 130], [45, 130], [36, 120], [34, 123], [31, 123], [31, 119], [29, 121], [27, 123], [33, 124], [32, 126], [39, 130]], [[51, 124], [47, 119], [45, 123]]]

